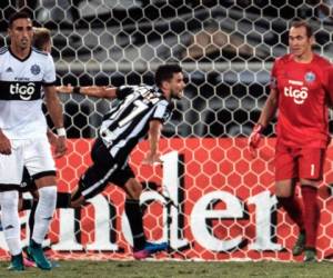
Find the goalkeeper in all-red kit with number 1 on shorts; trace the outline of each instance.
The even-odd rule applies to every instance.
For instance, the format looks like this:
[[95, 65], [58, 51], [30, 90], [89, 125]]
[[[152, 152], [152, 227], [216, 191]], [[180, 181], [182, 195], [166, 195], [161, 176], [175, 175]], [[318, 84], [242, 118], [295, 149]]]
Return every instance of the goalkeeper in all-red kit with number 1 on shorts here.
[[[332, 99], [333, 92], [331, 64], [312, 51], [313, 43], [311, 27], [304, 21], [293, 22], [289, 31], [290, 53], [274, 62], [270, 96], [249, 138], [249, 147], [255, 151], [262, 131], [279, 109], [275, 195], [299, 226], [293, 255], [304, 251], [304, 261], [316, 260], [317, 186], [330, 143], [326, 100]], [[303, 208], [294, 193], [297, 181]]]

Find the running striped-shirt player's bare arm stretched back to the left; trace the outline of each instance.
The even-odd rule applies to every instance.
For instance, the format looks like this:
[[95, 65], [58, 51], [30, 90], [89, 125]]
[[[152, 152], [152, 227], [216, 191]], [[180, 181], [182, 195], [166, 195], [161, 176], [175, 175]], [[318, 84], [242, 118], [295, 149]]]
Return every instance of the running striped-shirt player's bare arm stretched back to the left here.
[[89, 97], [95, 98], [108, 98], [113, 99], [117, 97], [115, 95], [117, 88], [107, 87], [107, 86], [59, 86], [57, 87], [57, 92], [63, 93], [80, 93]]

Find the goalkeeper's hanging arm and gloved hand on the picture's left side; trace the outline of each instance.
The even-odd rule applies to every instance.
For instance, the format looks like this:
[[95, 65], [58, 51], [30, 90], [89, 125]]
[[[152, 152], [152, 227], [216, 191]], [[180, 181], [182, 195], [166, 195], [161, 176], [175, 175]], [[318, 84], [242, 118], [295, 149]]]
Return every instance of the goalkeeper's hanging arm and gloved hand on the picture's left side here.
[[276, 110], [278, 110], [278, 90], [271, 89], [270, 96], [260, 115], [258, 123], [253, 127], [252, 133], [249, 137], [249, 149], [253, 156], [255, 155], [255, 150], [260, 145], [262, 131], [265, 129], [265, 127], [270, 123], [272, 118], [275, 116]]

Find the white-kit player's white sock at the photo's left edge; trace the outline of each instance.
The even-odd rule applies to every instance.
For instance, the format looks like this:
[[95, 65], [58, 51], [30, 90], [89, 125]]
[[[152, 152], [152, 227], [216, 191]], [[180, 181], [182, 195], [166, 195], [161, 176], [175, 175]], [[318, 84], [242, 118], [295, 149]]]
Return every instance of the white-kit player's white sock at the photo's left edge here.
[[22, 252], [18, 202], [19, 192], [17, 190], [0, 192], [1, 221], [6, 242], [12, 256]]

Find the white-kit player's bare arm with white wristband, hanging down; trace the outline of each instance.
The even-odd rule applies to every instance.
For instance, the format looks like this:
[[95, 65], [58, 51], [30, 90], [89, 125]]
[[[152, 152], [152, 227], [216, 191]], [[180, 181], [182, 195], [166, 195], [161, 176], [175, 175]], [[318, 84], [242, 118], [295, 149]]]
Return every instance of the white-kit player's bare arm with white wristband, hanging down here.
[[60, 100], [56, 92], [54, 86], [44, 87], [46, 92], [46, 103], [50, 117], [53, 121], [54, 127], [57, 128], [58, 138], [54, 143], [54, 158], [60, 158], [65, 155], [67, 146], [65, 146], [65, 132], [63, 129], [63, 118], [62, 118], [62, 107], [60, 105]]

